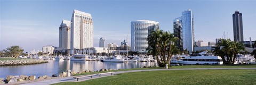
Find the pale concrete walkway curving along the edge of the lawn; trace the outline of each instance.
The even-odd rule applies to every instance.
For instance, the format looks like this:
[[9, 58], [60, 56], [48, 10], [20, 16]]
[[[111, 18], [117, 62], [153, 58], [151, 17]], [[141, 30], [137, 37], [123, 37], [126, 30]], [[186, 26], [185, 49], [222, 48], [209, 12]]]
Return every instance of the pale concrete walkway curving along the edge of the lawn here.
[[[121, 74], [121, 73], [130, 73], [130, 72], [166, 71], [166, 70], [256, 70], [256, 68], [150, 69], [150, 70], [118, 71], [118, 72], [115, 72], [114, 75], [115, 74]], [[112, 75], [112, 76], [114, 76], [114, 75]], [[95, 76], [92, 77], [92, 79], [103, 78], [103, 77], [108, 77], [108, 76], [111, 76], [111, 73], [102, 74], [101, 77], [99, 77], [99, 75], [95, 75]], [[36, 81], [36, 82], [31, 81], [30, 83], [25, 83], [25, 84], [22, 84], [22, 85], [54, 84], [54, 83], [59, 83], [59, 82], [81, 82], [81, 81], [86, 81], [86, 80], [91, 80], [91, 77], [79, 78], [79, 81], [77, 81], [77, 79], [74, 79], [73, 77], [57, 78], [57, 79], [50, 79], [50, 80], [43, 80], [43, 81]]]

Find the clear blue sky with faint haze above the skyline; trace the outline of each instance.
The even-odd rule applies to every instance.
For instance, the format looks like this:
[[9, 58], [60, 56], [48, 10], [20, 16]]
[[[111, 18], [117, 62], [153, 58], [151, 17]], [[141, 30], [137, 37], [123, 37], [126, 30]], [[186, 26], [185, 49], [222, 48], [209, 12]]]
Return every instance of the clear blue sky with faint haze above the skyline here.
[[131, 21], [152, 20], [159, 28], [173, 32], [173, 20], [185, 10], [194, 14], [195, 40], [215, 41], [226, 37], [233, 40], [232, 14], [243, 14], [244, 41], [256, 40], [256, 1], [50, 1], [50, 0], [0, 0], [0, 50], [19, 45], [25, 52], [42, 50], [43, 46], [59, 46], [61, 21], [71, 20], [73, 10], [92, 15], [94, 47], [99, 39], [106, 44], [126, 39], [131, 44]]

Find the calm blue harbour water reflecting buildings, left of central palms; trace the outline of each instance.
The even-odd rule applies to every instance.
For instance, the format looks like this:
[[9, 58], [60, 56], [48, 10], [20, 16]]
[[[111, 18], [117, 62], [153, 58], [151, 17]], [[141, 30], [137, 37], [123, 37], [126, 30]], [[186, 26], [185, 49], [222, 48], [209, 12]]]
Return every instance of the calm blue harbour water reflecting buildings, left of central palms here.
[[36, 75], [36, 77], [57, 74], [63, 71], [71, 70], [75, 72], [85, 70], [100, 69], [131, 69], [141, 66], [155, 66], [156, 62], [100, 62], [100, 61], [66, 61], [66, 60], [49, 60], [49, 63], [35, 65], [19, 66], [0, 66], [0, 78], [6, 78], [7, 75]]

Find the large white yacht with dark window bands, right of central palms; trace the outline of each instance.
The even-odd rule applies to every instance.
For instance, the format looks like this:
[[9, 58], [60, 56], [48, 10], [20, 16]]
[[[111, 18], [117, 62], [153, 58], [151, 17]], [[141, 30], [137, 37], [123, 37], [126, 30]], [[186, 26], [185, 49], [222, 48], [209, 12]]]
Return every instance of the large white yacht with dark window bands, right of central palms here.
[[185, 58], [177, 60], [179, 64], [223, 64], [220, 56], [213, 56], [213, 54], [206, 54], [207, 51], [199, 54], [190, 54]]

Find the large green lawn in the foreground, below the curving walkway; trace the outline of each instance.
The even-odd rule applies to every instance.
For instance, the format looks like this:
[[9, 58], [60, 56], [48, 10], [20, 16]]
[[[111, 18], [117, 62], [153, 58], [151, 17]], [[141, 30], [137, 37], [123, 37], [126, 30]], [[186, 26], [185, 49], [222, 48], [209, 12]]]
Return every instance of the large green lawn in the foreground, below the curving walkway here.
[[179, 70], [123, 73], [56, 84], [256, 84], [256, 70]]

